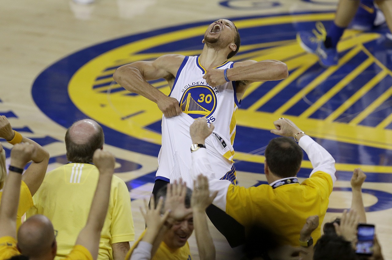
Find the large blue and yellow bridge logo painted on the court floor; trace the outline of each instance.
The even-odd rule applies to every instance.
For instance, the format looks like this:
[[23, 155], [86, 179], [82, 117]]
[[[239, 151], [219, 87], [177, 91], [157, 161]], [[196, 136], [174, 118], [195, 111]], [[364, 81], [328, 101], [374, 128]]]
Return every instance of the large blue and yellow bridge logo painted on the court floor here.
[[[263, 172], [265, 146], [275, 137], [270, 133], [272, 122], [283, 116], [334, 156], [339, 181], [349, 181], [352, 171], [361, 167], [368, 182], [392, 182], [392, 53], [383, 34], [347, 30], [338, 45], [339, 64], [322, 68], [315, 55], [301, 49], [296, 33], [312, 31], [318, 21], [328, 28], [333, 18], [332, 12], [320, 12], [230, 19], [241, 35], [240, 52], [232, 61], [281, 60], [289, 69], [287, 79], [252, 83], [244, 94], [235, 115], [238, 171]], [[145, 97], [118, 85], [113, 73], [122, 65], [164, 54], [199, 55], [210, 22], [126, 36], [73, 53], [36, 78], [34, 101], [64, 127], [91, 117], [103, 126], [107, 144], [157, 157], [162, 112]], [[163, 79], [149, 83], [170, 93]], [[208, 117], [214, 112], [216, 96], [200, 84], [187, 88], [179, 102], [192, 117]], [[317, 127], [320, 124], [323, 128]], [[138, 163], [138, 156], [129, 160]], [[140, 171], [148, 168], [141, 167]], [[305, 156], [298, 177], [308, 177], [311, 169]], [[137, 181], [153, 182], [154, 170], [130, 179], [131, 186]], [[391, 208], [392, 202], [383, 207]]]

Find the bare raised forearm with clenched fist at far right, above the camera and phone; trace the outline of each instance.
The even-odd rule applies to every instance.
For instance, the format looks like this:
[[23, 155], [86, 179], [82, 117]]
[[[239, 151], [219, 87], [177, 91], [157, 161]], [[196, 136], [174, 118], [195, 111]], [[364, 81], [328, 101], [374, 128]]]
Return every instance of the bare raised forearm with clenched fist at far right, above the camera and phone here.
[[365, 179], [366, 174], [361, 169], [356, 168], [350, 181], [352, 190], [351, 209], [358, 213], [360, 223], [366, 223], [365, 207], [362, 200], [362, 184]]

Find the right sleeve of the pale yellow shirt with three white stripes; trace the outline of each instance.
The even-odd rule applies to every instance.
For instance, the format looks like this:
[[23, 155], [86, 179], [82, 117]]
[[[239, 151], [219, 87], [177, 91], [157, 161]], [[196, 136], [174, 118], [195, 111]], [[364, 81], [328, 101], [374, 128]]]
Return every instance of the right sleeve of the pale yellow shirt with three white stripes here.
[[113, 193], [114, 205], [110, 233], [112, 244], [135, 240], [135, 230], [131, 211], [131, 198], [125, 182], [118, 180], [116, 190]]

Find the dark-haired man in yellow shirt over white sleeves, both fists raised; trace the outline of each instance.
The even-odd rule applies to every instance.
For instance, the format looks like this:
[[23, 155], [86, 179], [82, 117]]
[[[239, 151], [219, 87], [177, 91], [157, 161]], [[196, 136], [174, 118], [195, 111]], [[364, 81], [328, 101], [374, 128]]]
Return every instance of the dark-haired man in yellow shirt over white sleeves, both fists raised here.
[[[313, 232], [316, 241], [328, 208], [335, 177], [335, 160], [322, 146], [302, 132], [289, 119], [274, 121], [274, 138], [265, 150], [264, 173], [269, 184], [245, 188], [225, 180], [209, 179], [210, 189], [218, 191], [215, 206], [225, 211], [245, 228], [261, 223], [268, 225], [282, 244], [299, 246], [312, 241], [300, 241], [299, 233], [309, 216], [317, 215], [319, 225]], [[190, 127], [192, 143], [204, 144], [213, 130], [205, 118], [197, 119]], [[292, 138], [294, 137], [295, 141]], [[313, 170], [309, 178], [299, 183], [297, 173], [307, 153]], [[206, 148], [192, 152], [192, 172], [211, 172]]]

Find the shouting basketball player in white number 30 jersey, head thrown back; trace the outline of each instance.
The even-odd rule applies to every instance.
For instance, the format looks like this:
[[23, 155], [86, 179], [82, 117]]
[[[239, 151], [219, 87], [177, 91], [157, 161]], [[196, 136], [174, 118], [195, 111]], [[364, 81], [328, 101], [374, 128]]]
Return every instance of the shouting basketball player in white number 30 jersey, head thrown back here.
[[[168, 182], [180, 178], [192, 188], [189, 126], [198, 117], [206, 117], [208, 123], [215, 125], [214, 134], [206, 140], [213, 162], [212, 172], [215, 173], [211, 177], [235, 184], [232, 145], [236, 134], [235, 112], [240, 107], [241, 98], [252, 82], [288, 76], [287, 66], [281, 61], [228, 61], [240, 48], [240, 34], [229, 20], [211, 23], [202, 42], [204, 47], [200, 56], [163, 55], [155, 61], [124, 65], [113, 74], [118, 84], [155, 102], [163, 112], [162, 148], [158, 155], [154, 194]], [[169, 83], [169, 96], [147, 82], [160, 78]], [[192, 149], [201, 146], [193, 144]], [[211, 219], [211, 215], [218, 213], [207, 209], [207, 215]], [[234, 239], [236, 237], [238, 234], [234, 234]], [[231, 246], [235, 244], [230, 243]]]

